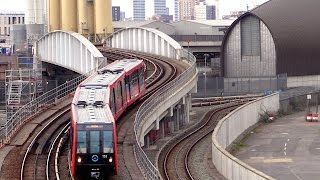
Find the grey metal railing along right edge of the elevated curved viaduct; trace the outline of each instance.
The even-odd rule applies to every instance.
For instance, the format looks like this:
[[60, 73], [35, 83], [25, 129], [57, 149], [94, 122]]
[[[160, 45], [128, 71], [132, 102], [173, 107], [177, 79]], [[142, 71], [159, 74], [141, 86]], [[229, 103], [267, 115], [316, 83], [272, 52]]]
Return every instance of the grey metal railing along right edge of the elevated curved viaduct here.
[[140, 123], [143, 122], [145, 118], [148, 118], [148, 116], [158, 106], [161, 105], [161, 102], [168, 100], [171, 95], [175, 94], [181, 87], [183, 87], [184, 84], [188, 83], [188, 81], [190, 81], [190, 79], [197, 74], [195, 57], [184, 49], [181, 51], [181, 58], [187, 60], [191, 66], [181, 75], [179, 75], [174, 81], [159, 89], [152, 96], [152, 98], [147, 99], [139, 108], [134, 122], [134, 132], [136, 136], [136, 142], [134, 143], [134, 154], [141, 172], [147, 179], [160, 179], [160, 174], [158, 169], [148, 159], [147, 155], [140, 146], [140, 138], [137, 137], [139, 134], [139, 128], [141, 128]]

